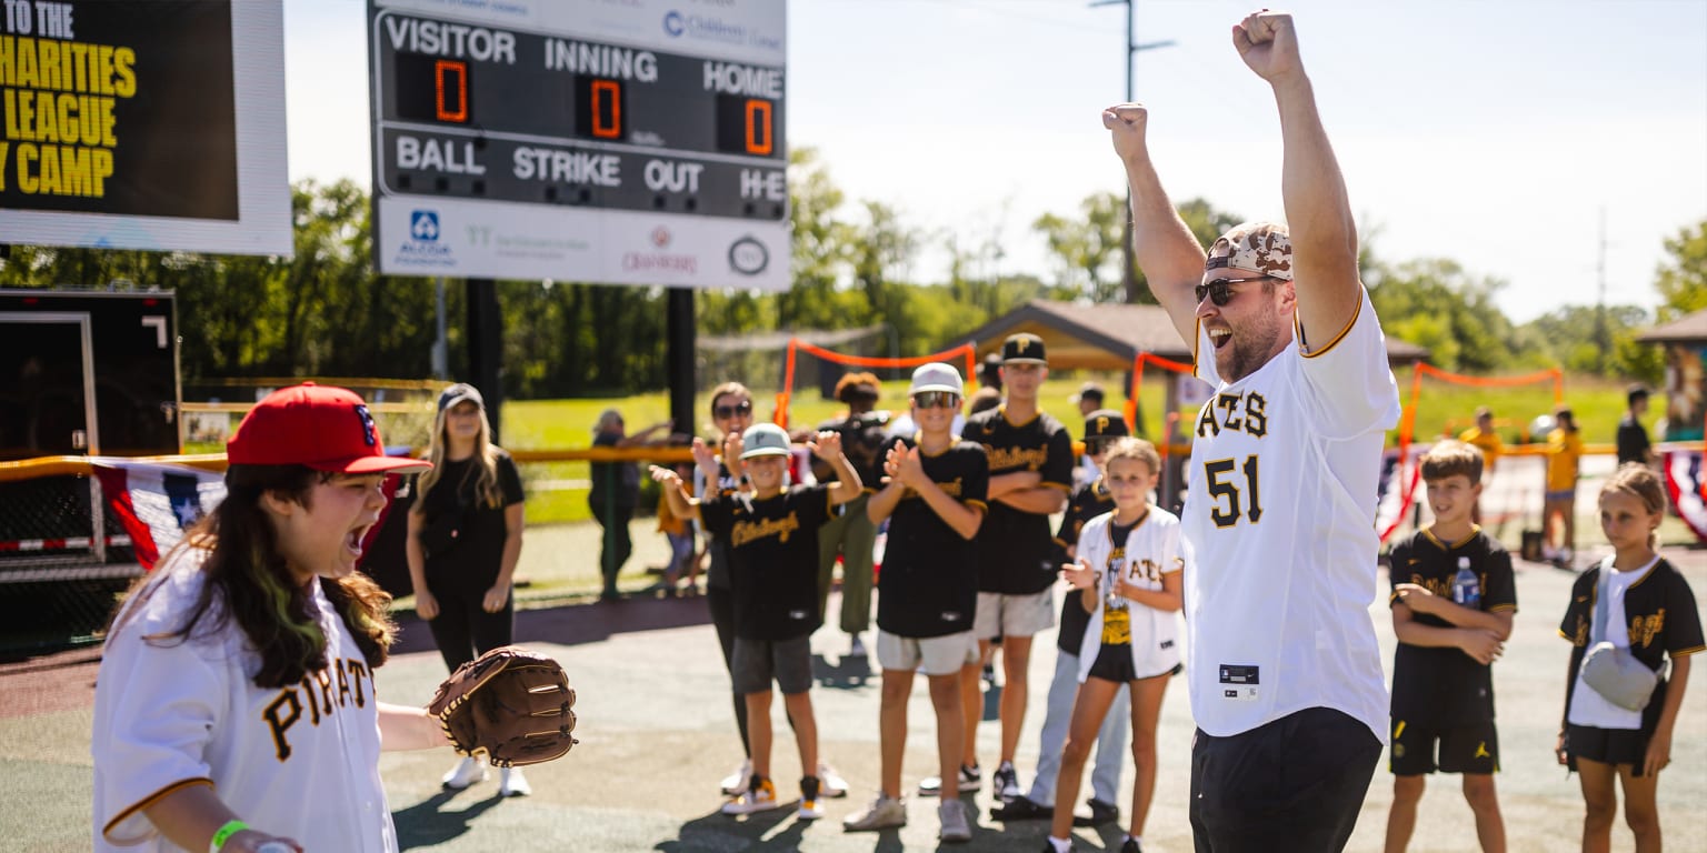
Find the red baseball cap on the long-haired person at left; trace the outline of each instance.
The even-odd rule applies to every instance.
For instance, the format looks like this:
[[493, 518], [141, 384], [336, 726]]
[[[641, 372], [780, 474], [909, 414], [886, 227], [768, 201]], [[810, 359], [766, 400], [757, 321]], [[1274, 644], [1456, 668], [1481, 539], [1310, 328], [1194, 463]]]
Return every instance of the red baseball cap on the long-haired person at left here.
[[386, 456], [367, 403], [353, 391], [300, 386], [273, 391], [242, 416], [225, 442], [234, 466], [304, 466], [336, 474], [413, 473], [425, 459]]

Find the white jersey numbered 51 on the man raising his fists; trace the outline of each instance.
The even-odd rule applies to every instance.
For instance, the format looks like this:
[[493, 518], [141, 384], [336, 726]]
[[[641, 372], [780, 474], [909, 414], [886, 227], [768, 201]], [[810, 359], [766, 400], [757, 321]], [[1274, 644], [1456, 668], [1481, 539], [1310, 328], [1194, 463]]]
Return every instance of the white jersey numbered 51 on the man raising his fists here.
[[[1294, 328], [1294, 331], [1297, 331]], [[1386, 739], [1369, 604], [1376, 488], [1400, 401], [1369, 293], [1340, 334], [1224, 382], [1198, 326], [1185, 529], [1191, 715], [1226, 737], [1333, 708]]]

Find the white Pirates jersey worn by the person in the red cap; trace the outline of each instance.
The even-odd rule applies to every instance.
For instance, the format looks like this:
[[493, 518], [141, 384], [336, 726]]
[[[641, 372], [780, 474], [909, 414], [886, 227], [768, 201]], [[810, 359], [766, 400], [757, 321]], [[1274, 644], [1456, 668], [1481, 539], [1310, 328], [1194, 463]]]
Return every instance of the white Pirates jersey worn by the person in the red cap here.
[[253, 829], [304, 850], [396, 851], [374, 676], [319, 583], [328, 669], [287, 688], [254, 686], [261, 660], [237, 623], [210, 630], [217, 602], [188, 640], [143, 640], [183, 626], [205, 554], [184, 549], [160, 566], [108, 636], [90, 746], [94, 850], [179, 850], [143, 809], [186, 785], [212, 785]]

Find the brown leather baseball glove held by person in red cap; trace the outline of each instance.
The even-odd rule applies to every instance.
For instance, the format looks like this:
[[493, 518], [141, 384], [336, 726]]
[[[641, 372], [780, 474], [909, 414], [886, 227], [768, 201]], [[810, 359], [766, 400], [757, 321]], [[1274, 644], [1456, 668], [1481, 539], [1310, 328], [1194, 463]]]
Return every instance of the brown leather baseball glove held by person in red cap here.
[[556, 660], [507, 645], [456, 669], [427, 706], [457, 754], [498, 768], [562, 757], [577, 744], [575, 689]]

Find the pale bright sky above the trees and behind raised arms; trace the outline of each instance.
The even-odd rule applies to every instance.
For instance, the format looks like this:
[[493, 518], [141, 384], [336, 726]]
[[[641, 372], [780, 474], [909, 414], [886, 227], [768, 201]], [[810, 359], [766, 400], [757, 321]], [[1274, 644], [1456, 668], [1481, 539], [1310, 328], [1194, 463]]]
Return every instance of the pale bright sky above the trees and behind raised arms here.
[[[364, 9], [285, 3], [292, 179], [369, 183]], [[1499, 304], [1526, 321], [1598, 299], [1605, 217], [1608, 300], [1657, 302], [1661, 242], [1707, 218], [1707, 0], [1290, 9], [1378, 256], [1506, 280]], [[1273, 101], [1229, 41], [1250, 10], [1142, 2], [1139, 41], [1174, 44], [1139, 55], [1137, 97], [1176, 201], [1279, 218]], [[789, 143], [819, 148], [850, 200], [995, 239], [1000, 271], [1048, 278], [1031, 222], [1123, 189], [1099, 123], [1125, 94], [1123, 19], [1081, 0], [795, 0]], [[942, 251], [910, 270], [944, 275]]]

